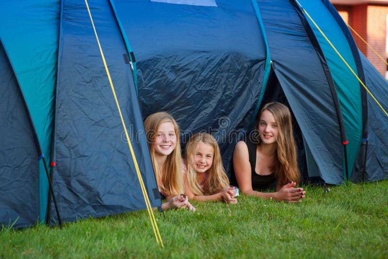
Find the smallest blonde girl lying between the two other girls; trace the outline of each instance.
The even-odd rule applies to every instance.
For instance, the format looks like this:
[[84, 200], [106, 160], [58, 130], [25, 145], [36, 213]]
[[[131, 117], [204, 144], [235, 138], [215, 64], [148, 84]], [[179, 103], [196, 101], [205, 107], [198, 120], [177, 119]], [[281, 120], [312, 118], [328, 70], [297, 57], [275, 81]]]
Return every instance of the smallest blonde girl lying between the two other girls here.
[[220, 148], [213, 136], [194, 134], [186, 145], [185, 160], [185, 193], [189, 199], [237, 203], [234, 187], [229, 187]]

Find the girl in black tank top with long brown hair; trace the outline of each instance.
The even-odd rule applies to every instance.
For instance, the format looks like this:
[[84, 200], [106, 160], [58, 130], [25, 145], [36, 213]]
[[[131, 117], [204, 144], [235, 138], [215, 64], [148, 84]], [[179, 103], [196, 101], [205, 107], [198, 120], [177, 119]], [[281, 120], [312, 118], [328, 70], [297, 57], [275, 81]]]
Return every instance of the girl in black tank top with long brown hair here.
[[[287, 106], [271, 102], [261, 109], [255, 129], [258, 138], [236, 144], [232, 180], [242, 193], [277, 201], [298, 202], [305, 197], [300, 181], [291, 113]], [[252, 138], [252, 134], [250, 135]], [[275, 193], [262, 190], [276, 182]]]

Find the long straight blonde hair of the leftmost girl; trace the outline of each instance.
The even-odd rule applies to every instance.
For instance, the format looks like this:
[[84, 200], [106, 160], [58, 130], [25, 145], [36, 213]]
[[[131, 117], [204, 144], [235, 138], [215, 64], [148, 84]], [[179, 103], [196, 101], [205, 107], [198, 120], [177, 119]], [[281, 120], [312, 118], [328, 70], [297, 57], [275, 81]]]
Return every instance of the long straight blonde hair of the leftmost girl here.
[[[167, 156], [162, 168], [160, 168], [156, 161], [155, 148], [153, 145], [158, 136], [158, 129], [164, 122], [171, 122], [174, 125], [175, 134], [177, 136], [177, 145], [173, 152]], [[159, 191], [164, 195], [183, 194], [182, 155], [177, 122], [170, 114], [159, 112], [149, 115], [144, 121], [144, 127], [146, 129], [146, 138]]]

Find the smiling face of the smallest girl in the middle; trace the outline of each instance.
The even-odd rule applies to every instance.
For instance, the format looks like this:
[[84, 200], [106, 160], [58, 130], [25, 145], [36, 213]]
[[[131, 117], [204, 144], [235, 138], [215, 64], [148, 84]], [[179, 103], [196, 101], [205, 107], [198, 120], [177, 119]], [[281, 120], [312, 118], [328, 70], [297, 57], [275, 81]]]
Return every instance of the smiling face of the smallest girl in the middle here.
[[213, 164], [214, 148], [203, 142], [198, 143], [194, 153], [194, 168], [197, 173], [205, 173]]

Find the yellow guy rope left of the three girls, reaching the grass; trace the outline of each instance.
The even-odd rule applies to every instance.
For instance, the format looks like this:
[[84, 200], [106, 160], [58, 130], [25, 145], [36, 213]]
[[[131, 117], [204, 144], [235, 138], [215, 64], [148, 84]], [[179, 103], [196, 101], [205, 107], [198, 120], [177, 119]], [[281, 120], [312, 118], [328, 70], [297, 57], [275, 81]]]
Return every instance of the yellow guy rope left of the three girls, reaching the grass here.
[[106, 65], [105, 56], [104, 56], [104, 53], [102, 52], [101, 45], [100, 45], [100, 42], [98, 40], [96, 27], [94, 26], [92, 14], [90, 13], [90, 9], [89, 9], [89, 5], [88, 5], [87, 0], [85, 0], [85, 4], [86, 4], [86, 8], [88, 9], [88, 13], [89, 13], [89, 16], [90, 16], [90, 21], [92, 22], [92, 25], [93, 25], [94, 33], [96, 34], [98, 48], [100, 49], [100, 52], [101, 52], [102, 61], [104, 62], [104, 66], [105, 66], [106, 73], [108, 75], [109, 83], [111, 84], [111, 89], [112, 89], [112, 93], [113, 93], [113, 96], [114, 96], [114, 100], [116, 101], [118, 112], [120, 113], [121, 123], [123, 124], [123, 127], [124, 127], [125, 136], [127, 137], [127, 142], [128, 142], [129, 150], [130, 150], [130, 153], [132, 155], [133, 162], [135, 164], [137, 177], [139, 178], [139, 182], [140, 182], [140, 186], [142, 188], [142, 193], [143, 193], [143, 196], [144, 196], [144, 200], [146, 201], [146, 207], [147, 207], [148, 215], [149, 215], [149, 217], [151, 219], [151, 225], [152, 225], [152, 229], [154, 230], [156, 242], [159, 243], [159, 241], [160, 241], [162, 247], [164, 247], [163, 242], [162, 242], [162, 237], [161, 237], [161, 234], [159, 232], [158, 225], [156, 224], [156, 220], [155, 220], [155, 216], [154, 216], [153, 210], [151, 208], [151, 204], [149, 202], [148, 194], [146, 192], [146, 187], [144, 185], [142, 175], [140, 174], [140, 169], [139, 169], [139, 166], [137, 164], [135, 153], [133, 152], [133, 148], [132, 148], [132, 145], [131, 145], [130, 140], [129, 140], [127, 127], [125, 126], [125, 123], [124, 123], [123, 115], [121, 113], [120, 106], [119, 106], [119, 103], [118, 103], [118, 100], [117, 100], [117, 97], [116, 97], [116, 92], [114, 91], [113, 82], [112, 82], [112, 79], [111, 79], [111, 74], [109, 73], [108, 66]]

